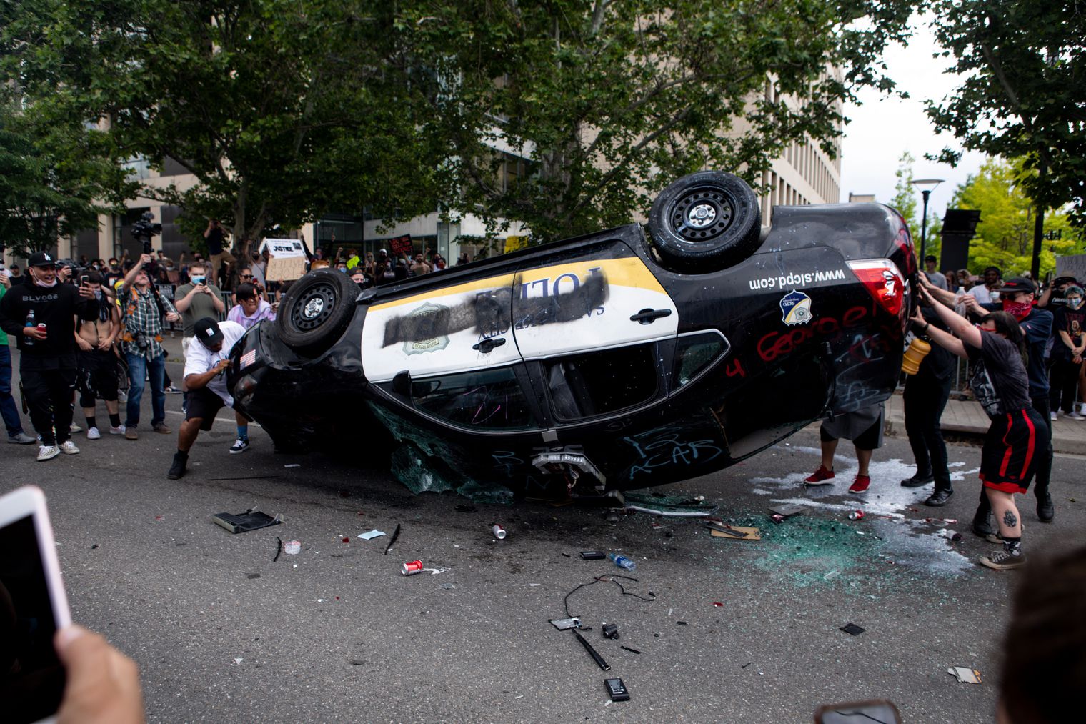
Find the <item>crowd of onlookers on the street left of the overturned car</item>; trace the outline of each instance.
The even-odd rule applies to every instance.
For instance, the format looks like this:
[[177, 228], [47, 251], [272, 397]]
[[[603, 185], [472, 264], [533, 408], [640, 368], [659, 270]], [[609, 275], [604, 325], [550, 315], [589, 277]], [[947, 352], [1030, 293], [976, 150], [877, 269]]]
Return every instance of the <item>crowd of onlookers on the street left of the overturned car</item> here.
[[[78, 401], [89, 440], [103, 432], [138, 440], [140, 405], [150, 387], [150, 429], [169, 435], [166, 395], [185, 395], [185, 422], [168, 476], [186, 472], [188, 453], [200, 429], [210, 429], [223, 407], [232, 407], [223, 371], [233, 342], [263, 321], [274, 321], [289, 282], [267, 280], [267, 251], [254, 251], [243, 239], [228, 249], [226, 233], [210, 220], [203, 234], [209, 255], [200, 252], [175, 262], [159, 250], [129, 259], [58, 260], [33, 254], [25, 270], [0, 269], [0, 413], [8, 440], [38, 444], [39, 461], [78, 454], [73, 434]], [[466, 263], [462, 254], [457, 263]], [[361, 287], [395, 283], [447, 267], [433, 250], [389, 255], [384, 249], [359, 255], [338, 249], [326, 258], [318, 248], [307, 269], [333, 267]], [[176, 386], [166, 371], [163, 336], [181, 333], [185, 372]], [[35, 435], [23, 428], [12, 395], [12, 358], [8, 335], [17, 340], [23, 399]], [[121, 398], [125, 395], [125, 410]], [[109, 416], [99, 425], [98, 401]], [[122, 414], [124, 417], [122, 419]], [[229, 452], [249, 448], [248, 421], [236, 414], [237, 438]]]

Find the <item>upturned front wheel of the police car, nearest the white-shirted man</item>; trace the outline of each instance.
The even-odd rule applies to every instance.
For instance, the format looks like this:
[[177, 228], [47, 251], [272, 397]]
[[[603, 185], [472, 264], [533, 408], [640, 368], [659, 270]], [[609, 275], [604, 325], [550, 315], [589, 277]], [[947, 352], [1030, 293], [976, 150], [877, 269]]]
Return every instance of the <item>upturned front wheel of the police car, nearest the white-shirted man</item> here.
[[279, 305], [279, 338], [296, 352], [327, 350], [354, 315], [357, 296], [358, 285], [346, 274], [330, 269], [310, 272], [290, 285]]

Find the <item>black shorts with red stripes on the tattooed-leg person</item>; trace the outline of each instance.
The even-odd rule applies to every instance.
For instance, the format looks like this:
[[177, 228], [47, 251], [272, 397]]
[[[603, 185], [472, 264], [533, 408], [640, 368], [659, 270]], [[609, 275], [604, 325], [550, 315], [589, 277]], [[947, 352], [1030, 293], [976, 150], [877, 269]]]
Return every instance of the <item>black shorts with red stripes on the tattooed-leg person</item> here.
[[1033, 408], [992, 419], [981, 450], [984, 487], [1025, 492], [1037, 458], [1048, 448], [1048, 425]]

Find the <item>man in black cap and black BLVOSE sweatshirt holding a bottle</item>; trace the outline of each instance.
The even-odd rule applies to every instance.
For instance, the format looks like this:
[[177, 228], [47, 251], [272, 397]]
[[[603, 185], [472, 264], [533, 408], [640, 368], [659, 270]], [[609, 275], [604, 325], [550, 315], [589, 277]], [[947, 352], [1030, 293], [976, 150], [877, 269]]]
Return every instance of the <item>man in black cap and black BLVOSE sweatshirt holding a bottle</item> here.
[[0, 326], [16, 337], [22, 351], [18, 372], [30, 422], [41, 436], [38, 460], [43, 461], [61, 452], [79, 452], [70, 439], [76, 376], [75, 317], [94, 295], [86, 286], [59, 284], [56, 260], [48, 252], [34, 253], [27, 267], [33, 284], [12, 287], [0, 299]]

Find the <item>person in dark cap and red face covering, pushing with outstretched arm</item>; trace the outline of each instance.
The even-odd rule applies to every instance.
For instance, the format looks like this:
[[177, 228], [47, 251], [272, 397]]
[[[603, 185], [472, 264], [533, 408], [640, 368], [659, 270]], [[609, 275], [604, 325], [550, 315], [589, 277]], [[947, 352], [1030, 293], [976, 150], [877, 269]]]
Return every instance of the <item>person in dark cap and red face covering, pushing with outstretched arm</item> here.
[[[949, 292], [921, 284], [936, 299], [954, 304], [956, 298]], [[1033, 409], [1040, 413], [1044, 419], [1041, 424], [1049, 426], [1048, 408], [1048, 369], [1045, 364], [1045, 351], [1048, 341], [1052, 336], [1052, 313], [1033, 305], [1036, 287], [1032, 279], [1024, 276], [1015, 276], [1006, 282], [1001, 287], [995, 289], [999, 292], [999, 303], [982, 304], [975, 299], [963, 296], [962, 303], [965, 305], [970, 316], [974, 322], [980, 321], [988, 312], [1007, 312], [1018, 321], [1025, 335], [1027, 351], [1026, 373], [1030, 376], [1030, 400]], [[947, 301], [948, 300], [948, 301]], [[1052, 496], [1049, 492], [1048, 484], [1052, 474], [1052, 441], [1051, 429], [1045, 433], [1045, 449], [1040, 450], [1037, 460], [1037, 485], [1033, 494], [1037, 499], [1037, 520], [1041, 523], [1049, 523], [1056, 516], [1056, 509], [1052, 505]], [[977, 505], [976, 514], [973, 516], [973, 533], [986, 538], [996, 533], [992, 525], [992, 509], [988, 508], [988, 499], [981, 494], [981, 502]]]

